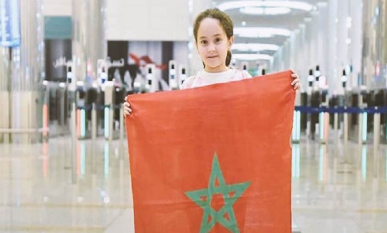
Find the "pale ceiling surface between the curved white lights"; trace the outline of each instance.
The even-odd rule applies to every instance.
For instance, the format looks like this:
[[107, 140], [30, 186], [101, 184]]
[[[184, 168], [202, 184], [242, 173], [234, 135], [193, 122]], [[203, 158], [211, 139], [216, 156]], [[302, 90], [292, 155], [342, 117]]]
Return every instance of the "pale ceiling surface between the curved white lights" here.
[[[218, 7], [221, 3], [230, 1], [242, 1], [242, 0], [213, 0], [213, 5]], [[260, 0], [258, 0], [260, 1]], [[275, 0], [263, 0], [266, 2]], [[327, 0], [289, 0], [309, 3], [312, 6], [316, 6], [318, 2], [326, 2]], [[312, 10], [313, 11], [313, 10]], [[293, 31], [299, 27], [299, 24], [304, 22], [304, 18], [311, 15], [311, 11], [303, 11], [298, 9], [291, 9], [290, 13], [284, 15], [249, 15], [240, 12], [240, 9], [225, 10], [230, 15], [234, 22], [234, 28], [240, 27], [273, 27], [282, 28]], [[243, 22], [245, 25], [243, 25]], [[285, 43], [286, 36], [273, 36], [270, 38], [248, 38], [239, 37], [235, 35], [235, 43], [264, 43], [264, 44], [276, 44], [281, 46]], [[244, 52], [245, 53], [245, 52]], [[260, 51], [263, 54], [273, 55], [275, 51]]]

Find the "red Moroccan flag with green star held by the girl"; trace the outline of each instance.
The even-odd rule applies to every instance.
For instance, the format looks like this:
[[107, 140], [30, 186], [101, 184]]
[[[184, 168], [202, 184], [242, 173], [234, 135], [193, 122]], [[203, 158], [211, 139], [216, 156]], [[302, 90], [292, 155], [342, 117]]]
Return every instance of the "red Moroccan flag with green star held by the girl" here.
[[290, 233], [291, 72], [128, 97], [136, 233]]

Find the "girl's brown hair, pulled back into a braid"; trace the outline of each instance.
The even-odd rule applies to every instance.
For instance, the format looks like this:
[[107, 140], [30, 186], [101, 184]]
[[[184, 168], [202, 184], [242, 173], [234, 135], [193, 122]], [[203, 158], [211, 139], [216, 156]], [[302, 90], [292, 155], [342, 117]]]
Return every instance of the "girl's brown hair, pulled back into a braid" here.
[[[197, 43], [197, 31], [199, 30], [199, 26], [201, 21], [205, 18], [213, 18], [217, 19], [220, 22], [220, 25], [222, 26], [223, 30], [225, 31], [227, 35], [227, 39], [230, 39], [234, 35], [234, 25], [233, 21], [231, 21], [231, 18], [224, 13], [223, 11], [214, 8], [214, 9], [207, 9], [203, 12], [201, 12], [195, 19], [194, 22], [194, 36], [195, 41]], [[227, 57], [226, 57], [226, 66], [229, 66], [231, 62], [231, 52], [227, 51]], [[203, 63], [204, 64], [204, 63]], [[205, 67], [205, 64], [204, 64]]]

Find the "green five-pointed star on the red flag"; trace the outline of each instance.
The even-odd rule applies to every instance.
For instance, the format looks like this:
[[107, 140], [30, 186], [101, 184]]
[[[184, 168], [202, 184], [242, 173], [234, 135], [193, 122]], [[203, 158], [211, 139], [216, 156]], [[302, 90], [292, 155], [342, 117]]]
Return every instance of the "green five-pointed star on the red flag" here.
[[[216, 185], [216, 180], [218, 180], [219, 185]], [[250, 182], [227, 185], [220, 169], [218, 156], [215, 153], [208, 188], [185, 193], [204, 210], [200, 233], [208, 233], [216, 223], [233, 233], [239, 233], [233, 205], [249, 186]], [[217, 194], [221, 194], [224, 199], [224, 206], [219, 211], [211, 206], [212, 197]]]

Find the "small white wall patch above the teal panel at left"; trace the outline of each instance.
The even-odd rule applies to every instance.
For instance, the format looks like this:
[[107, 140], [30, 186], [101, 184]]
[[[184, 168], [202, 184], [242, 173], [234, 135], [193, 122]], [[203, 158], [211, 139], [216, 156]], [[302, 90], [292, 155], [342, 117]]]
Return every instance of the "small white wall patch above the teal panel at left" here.
[[70, 16], [72, 0], [42, 0], [44, 16]]

